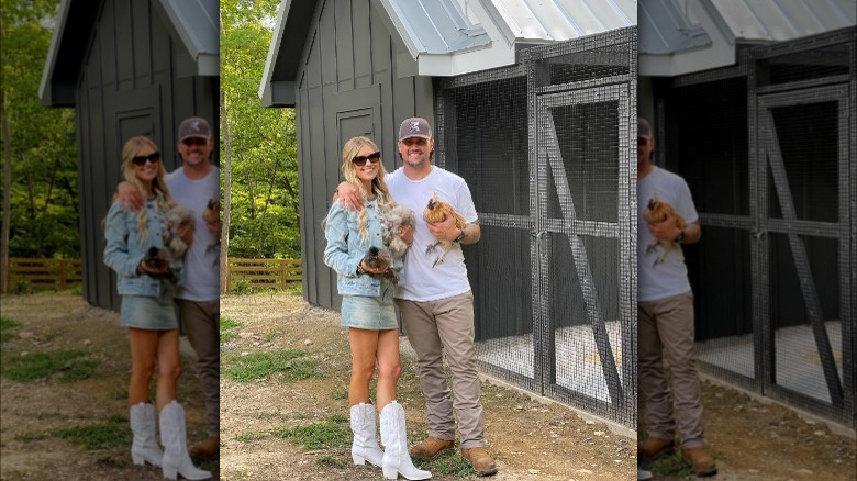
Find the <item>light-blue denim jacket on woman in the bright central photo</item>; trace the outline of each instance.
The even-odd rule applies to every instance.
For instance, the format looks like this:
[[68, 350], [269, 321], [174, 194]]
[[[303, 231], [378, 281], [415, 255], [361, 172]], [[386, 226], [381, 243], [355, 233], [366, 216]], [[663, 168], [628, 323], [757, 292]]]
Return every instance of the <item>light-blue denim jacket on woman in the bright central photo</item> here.
[[[381, 230], [383, 219], [375, 200], [364, 201], [367, 212], [366, 239], [357, 228], [359, 212], [340, 206], [338, 202], [331, 205], [325, 220], [324, 237], [327, 246], [324, 248], [324, 264], [336, 271], [336, 288], [340, 295], [381, 295], [381, 288], [389, 287], [367, 273], [358, 275], [357, 266], [369, 250], [369, 247], [383, 247]], [[393, 259], [393, 266], [401, 268], [402, 259]], [[400, 273], [400, 283], [404, 281], [404, 272]]]

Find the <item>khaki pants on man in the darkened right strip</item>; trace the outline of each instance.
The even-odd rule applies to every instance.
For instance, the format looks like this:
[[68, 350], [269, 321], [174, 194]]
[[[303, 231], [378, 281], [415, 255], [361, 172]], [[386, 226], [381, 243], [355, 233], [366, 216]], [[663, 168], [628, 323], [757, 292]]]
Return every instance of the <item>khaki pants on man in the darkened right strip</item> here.
[[[639, 389], [646, 400], [646, 430], [674, 439], [676, 426], [685, 448], [704, 446], [700, 383], [693, 345], [693, 293], [637, 304]], [[664, 368], [672, 373], [672, 396]], [[675, 406], [674, 406], [675, 400]]]

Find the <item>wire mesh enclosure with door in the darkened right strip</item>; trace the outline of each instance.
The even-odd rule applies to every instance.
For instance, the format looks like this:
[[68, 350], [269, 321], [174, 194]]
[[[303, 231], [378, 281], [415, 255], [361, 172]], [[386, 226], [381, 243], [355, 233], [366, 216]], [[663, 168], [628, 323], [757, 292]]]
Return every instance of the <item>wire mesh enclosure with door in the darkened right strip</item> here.
[[[677, 78], [663, 165], [688, 180], [698, 357], [728, 382], [857, 427], [855, 29]], [[850, 119], [850, 121], [849, 121]]]

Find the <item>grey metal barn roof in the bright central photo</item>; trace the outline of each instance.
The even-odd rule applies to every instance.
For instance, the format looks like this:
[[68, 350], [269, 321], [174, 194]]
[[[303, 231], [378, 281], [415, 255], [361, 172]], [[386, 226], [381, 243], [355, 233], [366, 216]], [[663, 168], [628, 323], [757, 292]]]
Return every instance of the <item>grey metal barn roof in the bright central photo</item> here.
[[[447, 77], [514, 65], [526, 46], [637, 24], [636, 0], [371, 0], [416, 74]], [[293, 105], [318, 1], [282, 0], [265, 64], [263, 105]]]

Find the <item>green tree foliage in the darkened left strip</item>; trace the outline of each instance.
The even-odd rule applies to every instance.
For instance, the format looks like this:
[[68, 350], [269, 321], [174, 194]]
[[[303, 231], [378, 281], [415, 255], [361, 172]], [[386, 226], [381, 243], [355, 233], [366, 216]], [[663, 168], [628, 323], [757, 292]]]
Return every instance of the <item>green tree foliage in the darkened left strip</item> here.
[[[59, 0], [2, 0], [2, 93], [11, 165], [9, 254], [79, 257], [75, 111], [45, 109], [38, 85]], [[7, 179], [3, 179], [7, 180]], [[2, 184], [2, 183], [0, 183]]]

